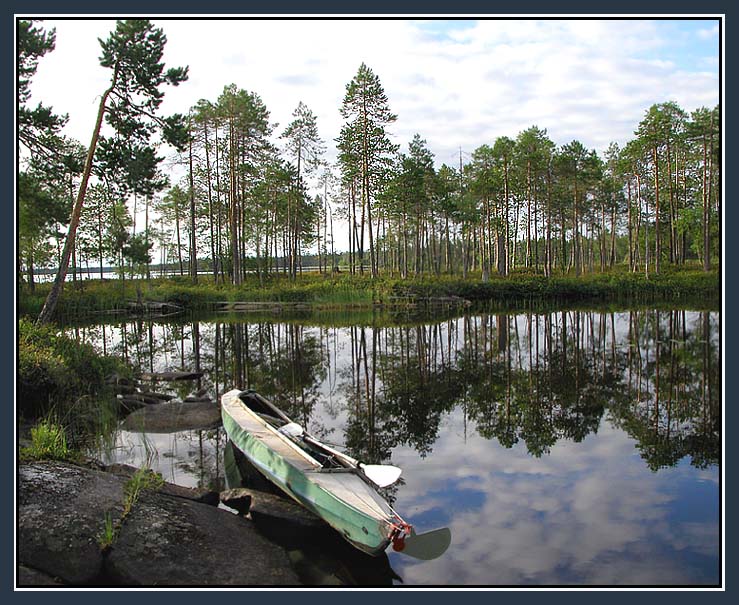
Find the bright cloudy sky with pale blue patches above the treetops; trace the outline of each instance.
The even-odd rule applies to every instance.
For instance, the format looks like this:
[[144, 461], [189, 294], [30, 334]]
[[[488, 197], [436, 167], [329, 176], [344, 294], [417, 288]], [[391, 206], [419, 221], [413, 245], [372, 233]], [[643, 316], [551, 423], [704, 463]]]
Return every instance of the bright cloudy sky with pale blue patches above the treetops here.
[[[693, 111], [719, 102], [717, 19], [153, 20], [168, 39], [167, 66], [190, 70], [167, 88], [163, 114], [215, 101], [234, 83], [262, 98], [277, 137], [302, 101], [317, 116], [328, 161], [362, 62], [398, 116], [394, 142], [405, 151], [420, 134], [437, 167], [532, 125], [557, 145], [578, 139], [601, 153], [633, 138], [654, 103]], [[56, 28], [56, 49], [39, 63], [31, 102], [69, 114], [66, 134], [87, 145], [111, 75], [99, 65], [98, 38], [115, 23], [44, 23]]]

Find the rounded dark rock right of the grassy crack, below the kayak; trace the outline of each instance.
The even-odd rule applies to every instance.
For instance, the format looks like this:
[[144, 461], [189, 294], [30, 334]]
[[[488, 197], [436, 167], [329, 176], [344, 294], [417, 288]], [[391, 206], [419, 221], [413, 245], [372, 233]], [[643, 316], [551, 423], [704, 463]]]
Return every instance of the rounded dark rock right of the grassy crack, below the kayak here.
[[126, 586], [298, 585], [286, 552], [226, 510], [145, 492], [106, 561]]

